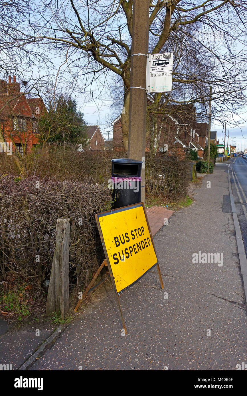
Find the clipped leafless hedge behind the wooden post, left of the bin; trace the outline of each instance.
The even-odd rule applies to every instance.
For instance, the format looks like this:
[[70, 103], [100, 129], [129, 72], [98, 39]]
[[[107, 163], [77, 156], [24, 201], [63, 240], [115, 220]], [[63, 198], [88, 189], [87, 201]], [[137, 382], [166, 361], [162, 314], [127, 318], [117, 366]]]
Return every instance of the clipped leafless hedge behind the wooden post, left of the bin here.
[[110, 206], [111, 193], [104, 186], [1, 176], [0, 278], [12, 272], [41, 286], [52, 266], [57, 219], [66, 217], [71, 226], [70, 284], [88, 283], [103, 259], [94, 214]]

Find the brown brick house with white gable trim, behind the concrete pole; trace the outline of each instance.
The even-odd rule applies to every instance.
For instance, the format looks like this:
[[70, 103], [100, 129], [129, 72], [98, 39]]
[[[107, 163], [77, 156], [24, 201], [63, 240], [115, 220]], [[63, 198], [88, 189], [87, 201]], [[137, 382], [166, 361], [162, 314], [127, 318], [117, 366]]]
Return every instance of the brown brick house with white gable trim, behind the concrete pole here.
[[[196, 133], [196, 109], [193, 105], [173, 105], [166, 108], [166, 114], [157, 115], [157, 127], [148, 126], [150, 133], [146, 138], [146, 152], [154, 147], [157, 152], [164, 150], [165, 144], [168, 145], [168, 154], [184, 156], [188, 148], [198, 152], [203, 156], [203, 148], [199, 143]], [[113, 149], [124, 150], [123, 131], [121, 116], [114, 120], [113, 126]]]

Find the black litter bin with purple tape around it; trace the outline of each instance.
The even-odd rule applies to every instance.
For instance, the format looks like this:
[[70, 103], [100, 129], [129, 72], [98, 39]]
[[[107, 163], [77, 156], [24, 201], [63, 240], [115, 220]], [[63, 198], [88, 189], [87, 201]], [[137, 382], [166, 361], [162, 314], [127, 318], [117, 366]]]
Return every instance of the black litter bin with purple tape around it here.
[[141, 202], [142, 161], [130, 158], [111, 160], [111, 187], [113, 208]]

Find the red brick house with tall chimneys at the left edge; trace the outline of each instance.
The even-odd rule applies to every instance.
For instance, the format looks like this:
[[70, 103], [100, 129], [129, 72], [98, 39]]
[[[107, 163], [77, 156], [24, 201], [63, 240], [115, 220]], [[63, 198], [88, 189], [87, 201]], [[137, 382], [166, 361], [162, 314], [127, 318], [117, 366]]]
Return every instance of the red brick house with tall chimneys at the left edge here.
[[29, 99], [20, 92], [20, 84], [13, 76], [8, 83], [0, 80], [0, 121], [2, 137], [13, 143], [12, 150], [23, 156], [38, 144], [38, 118], [46, 107], [40, 98]]

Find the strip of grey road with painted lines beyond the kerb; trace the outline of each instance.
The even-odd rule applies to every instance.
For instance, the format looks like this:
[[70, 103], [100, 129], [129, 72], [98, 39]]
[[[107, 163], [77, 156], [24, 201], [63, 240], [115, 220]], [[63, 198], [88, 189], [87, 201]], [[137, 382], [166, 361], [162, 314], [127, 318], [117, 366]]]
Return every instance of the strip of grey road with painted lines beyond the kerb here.
[[245, 253], [247, 253], [247, 160], [242, 157], [232, 159], [230, 178]]

